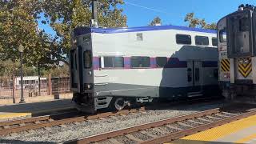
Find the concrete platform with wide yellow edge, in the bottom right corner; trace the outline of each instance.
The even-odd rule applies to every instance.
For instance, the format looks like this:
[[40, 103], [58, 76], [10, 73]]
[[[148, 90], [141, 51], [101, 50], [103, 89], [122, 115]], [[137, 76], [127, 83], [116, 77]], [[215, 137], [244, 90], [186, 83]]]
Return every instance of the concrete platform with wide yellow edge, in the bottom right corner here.
[[170, 143], [256, 143], [256, 115], [192, 134]]

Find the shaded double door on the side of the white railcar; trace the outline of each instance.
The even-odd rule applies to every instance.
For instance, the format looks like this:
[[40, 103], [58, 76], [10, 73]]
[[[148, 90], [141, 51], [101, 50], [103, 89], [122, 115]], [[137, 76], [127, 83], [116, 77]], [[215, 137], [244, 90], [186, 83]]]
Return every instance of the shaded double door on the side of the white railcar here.
[[202, 62], [187, 62], [188, 97], [202, 96]]

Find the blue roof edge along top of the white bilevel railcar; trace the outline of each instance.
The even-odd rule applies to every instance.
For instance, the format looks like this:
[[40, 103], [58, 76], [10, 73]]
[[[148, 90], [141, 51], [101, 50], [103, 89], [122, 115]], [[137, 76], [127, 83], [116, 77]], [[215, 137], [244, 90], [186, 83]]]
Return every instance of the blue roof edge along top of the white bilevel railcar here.
[[74, 35], [82, 35], [88, 33], [114, 34], [127, 33], [151, 30], [187, 30], [202, 33], [217, 34], [216, 30], [199, 29], [186, 26], [141, 26], [141, 27], [126, 27], [126, 28], [95, 28], [95, 27], [78, 27], [74, 29]]

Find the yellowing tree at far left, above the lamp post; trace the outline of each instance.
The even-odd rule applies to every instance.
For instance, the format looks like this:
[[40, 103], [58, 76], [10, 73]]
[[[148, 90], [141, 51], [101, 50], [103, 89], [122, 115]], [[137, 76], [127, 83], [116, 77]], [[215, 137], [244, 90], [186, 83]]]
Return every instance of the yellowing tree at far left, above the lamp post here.
[[42, 12], [41, 1], [0, 1], [0, 59], [19, 61], [18, 46], [24, 46], [24, 63], [37, 66], [49, 63], [55, 51], [52, 40], [38, 31], [38, 14]]

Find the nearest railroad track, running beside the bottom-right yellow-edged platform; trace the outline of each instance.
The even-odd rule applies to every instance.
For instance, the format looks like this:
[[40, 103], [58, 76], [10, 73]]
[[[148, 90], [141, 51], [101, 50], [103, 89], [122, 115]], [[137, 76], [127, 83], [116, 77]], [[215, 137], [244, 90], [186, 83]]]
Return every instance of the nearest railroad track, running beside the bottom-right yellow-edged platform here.
[[[242, 107], [243, 106], [243, 107]], [[233, 107], [233, 108], [232, 108]], [[241, 107], [243, 110], [241, 110]], [[255, 106], [254, 106], [255, 107]], [[244, 109], [241, 106], [227, 106], [206, 110], [195, 114], [168, 118], [122, 130], [114, 130], [86, 138], [79, 138], [64, 143], [163, 143], [171, 142], [186, 135], [195, 134], [228, 122], [234, 122], [256, 114], [255, 109]]]

